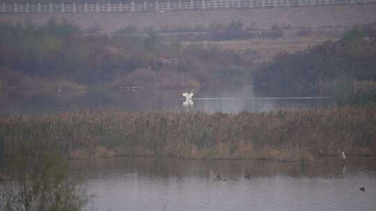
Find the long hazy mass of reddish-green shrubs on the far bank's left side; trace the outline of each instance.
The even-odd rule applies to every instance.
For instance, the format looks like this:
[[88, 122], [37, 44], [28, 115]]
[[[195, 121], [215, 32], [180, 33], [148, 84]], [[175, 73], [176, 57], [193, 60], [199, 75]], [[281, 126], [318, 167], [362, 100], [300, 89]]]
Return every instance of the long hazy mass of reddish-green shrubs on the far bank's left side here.
[[162, 42], [151, 29], [145, 36], [84, 35], [53, 19], [41, 26], [1, 23], [0, 55], [1, 88], [35, 88], [41, 81], [52, 90], [197, 87], [223, 69], [249, 72], [249, 60], [235, 51]]

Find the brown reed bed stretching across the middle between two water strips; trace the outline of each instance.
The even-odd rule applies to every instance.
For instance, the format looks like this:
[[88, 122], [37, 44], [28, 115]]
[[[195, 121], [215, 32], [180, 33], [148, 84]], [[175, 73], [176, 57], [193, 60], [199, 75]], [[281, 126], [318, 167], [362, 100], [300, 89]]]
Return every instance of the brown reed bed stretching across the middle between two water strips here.
[[[57, 149], [70, 158], [122, 155], [262, 158], [374, 155], [376, 106], [274, 112], [88, 110], [0, 117], [0, 153]], [[2, 152], [1, 152], [2, 149]]]

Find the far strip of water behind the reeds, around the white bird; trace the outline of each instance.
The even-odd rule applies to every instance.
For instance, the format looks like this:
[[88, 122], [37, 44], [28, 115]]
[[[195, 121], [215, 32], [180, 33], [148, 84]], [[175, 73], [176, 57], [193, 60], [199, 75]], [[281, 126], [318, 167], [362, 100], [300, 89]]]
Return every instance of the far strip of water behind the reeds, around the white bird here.
[[331, 99], [258, 99], [251, 86], [206, 87], [185, 101], [187, 90], [136, 90], [130, 92], [0, 92], [0, 113], [38, 115], [44, 112], [120, 108], [127, 111], [204, 110], [238, 112], [242, 110], [304, 109], [328, 105]]

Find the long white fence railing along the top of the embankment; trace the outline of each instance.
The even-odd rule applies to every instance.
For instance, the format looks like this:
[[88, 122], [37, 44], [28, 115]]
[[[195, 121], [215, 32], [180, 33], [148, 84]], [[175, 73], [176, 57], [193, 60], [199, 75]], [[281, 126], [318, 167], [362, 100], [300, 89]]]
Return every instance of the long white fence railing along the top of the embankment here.
[[169, 10], [216, 10], [235, 8], [281, 8], [297, 6], [326, 6], [344, 4], [368, 4], [376, 0], [174, 0], [153, 3], [49, 3], [6, 4], [0, 3], [0, 13], [17, 12], [142, 12]]

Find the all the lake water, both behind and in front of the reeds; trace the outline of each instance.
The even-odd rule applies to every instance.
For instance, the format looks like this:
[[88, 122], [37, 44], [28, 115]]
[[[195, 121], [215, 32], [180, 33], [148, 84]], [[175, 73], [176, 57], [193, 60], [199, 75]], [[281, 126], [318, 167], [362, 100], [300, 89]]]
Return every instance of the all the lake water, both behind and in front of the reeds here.
[[[238, 112], [309, 109], [333, 104], [310, 96], [257, 96], [251, 86], [190, 90], [0, 92], [0, 114], [41, 115], [87, 109]], [[124, 157], [70, 160], [97, 210], [375, 210], [376, 158], [318, 158], [309, 165], [272, 160]], [[219, 174], [221, 179], [217, 179]], [[249, 175], [249, 178], [244, 178]], [[361, 192], [360, 187], [366, 187]]]

